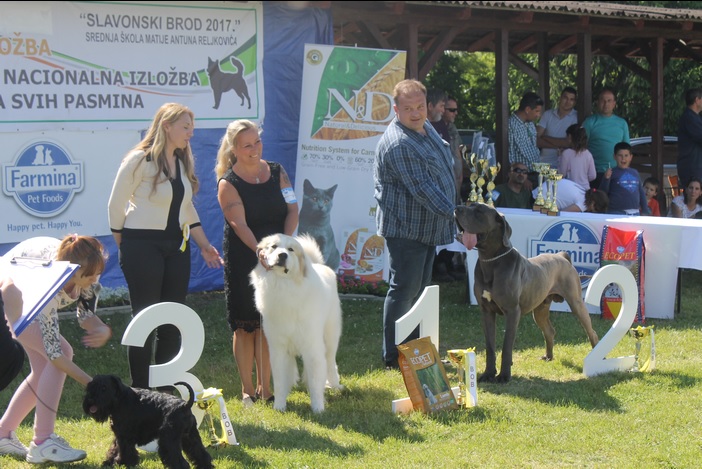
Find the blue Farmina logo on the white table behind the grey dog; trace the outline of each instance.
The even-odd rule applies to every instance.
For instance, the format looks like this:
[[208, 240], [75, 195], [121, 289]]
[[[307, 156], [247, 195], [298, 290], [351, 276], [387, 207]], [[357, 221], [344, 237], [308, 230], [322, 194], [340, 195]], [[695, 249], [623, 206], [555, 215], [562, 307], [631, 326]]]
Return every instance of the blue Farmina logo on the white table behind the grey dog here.
[[540, 238], [529, 239], [529, 257], [565, 251], [580, 275], [583, 290], [600, 268], [600, 238], [584, 223], [573, 220], [554, 223]]

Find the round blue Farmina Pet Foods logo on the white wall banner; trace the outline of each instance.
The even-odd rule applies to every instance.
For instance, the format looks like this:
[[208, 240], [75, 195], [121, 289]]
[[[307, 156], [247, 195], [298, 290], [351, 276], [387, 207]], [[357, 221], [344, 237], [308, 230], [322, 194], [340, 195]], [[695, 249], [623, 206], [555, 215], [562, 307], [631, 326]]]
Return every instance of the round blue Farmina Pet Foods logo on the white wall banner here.
[[83, 163], [74, 163], [57, 143], [34, 142], [20, 151], [14, 165], [3, 165], [2, 189], [25, 212], [53, 217], [83, 190]]

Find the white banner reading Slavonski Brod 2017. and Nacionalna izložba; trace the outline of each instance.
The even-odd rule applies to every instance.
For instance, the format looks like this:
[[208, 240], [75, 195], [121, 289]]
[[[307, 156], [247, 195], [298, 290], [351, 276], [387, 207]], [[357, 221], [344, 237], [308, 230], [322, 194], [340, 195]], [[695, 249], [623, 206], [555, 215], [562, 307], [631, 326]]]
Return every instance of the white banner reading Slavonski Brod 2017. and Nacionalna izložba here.
[[262, 2], [2, 2], [0, 132], [263, 119]]

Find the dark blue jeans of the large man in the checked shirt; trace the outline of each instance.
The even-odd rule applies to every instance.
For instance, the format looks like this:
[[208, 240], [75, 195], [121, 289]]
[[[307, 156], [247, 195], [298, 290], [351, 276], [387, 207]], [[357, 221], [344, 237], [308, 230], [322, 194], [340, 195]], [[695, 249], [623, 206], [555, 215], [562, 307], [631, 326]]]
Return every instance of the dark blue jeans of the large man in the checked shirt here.
[[[424, 287], [431, 282], [436, 246], [403, 238], [386, 238], [390, 257], [390, 289], [383, 308], [383, 360], [397, 360], [395, 321], [410, 310], [419, 299]], [[419, 328], [407, 339], [419, 338]]]

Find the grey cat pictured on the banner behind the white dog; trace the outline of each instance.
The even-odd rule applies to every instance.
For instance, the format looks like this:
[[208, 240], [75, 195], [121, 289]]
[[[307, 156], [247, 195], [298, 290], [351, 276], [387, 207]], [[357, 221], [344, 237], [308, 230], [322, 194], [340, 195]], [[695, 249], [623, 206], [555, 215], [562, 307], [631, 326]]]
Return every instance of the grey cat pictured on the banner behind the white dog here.
[[338, 184], [334, 184], [329, 189], [317, 189], [309, 179], [305, 179], [297, 228], [299, 235], [309, 234], [317, 241], [324, 256], [324, 263], [334, 272], [341, 261], [331, 226], [331, 209], [337, 186]]

